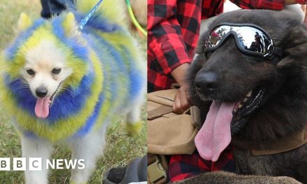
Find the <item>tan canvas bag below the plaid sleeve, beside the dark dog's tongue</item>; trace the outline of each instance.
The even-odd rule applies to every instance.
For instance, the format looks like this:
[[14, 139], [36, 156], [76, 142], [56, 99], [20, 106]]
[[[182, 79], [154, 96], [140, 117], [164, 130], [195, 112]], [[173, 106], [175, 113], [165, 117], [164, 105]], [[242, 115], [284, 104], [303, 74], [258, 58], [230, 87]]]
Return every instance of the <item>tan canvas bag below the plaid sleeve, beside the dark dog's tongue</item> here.
[[194, 108], [184, 114], [172, 112], [176, 92], [177, 89], [170, 89], [147, 95], [148, 153], [176, 155], [195, 151], [198, 129], [194, 122], [198, 121], [198, 112]]

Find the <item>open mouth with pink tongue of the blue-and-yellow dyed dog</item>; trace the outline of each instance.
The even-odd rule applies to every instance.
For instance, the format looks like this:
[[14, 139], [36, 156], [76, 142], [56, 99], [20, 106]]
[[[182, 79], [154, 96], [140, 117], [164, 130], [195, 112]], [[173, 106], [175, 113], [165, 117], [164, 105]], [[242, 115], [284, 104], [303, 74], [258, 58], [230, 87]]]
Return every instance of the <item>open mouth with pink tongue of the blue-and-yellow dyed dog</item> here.
[[51, 96], [46, 96], [45, 98], [38, 98], [36, 100], [34, 112], [38, 118], [47, 118], [47, 116], [49, 115], [50, 106], [52, 105], [52, 102], [54, 100], [54, 95], [57, 93], [57, 91], [59, 91], [60, 86], [61, 84], [59, 84], [57, 90], [54, 91]]

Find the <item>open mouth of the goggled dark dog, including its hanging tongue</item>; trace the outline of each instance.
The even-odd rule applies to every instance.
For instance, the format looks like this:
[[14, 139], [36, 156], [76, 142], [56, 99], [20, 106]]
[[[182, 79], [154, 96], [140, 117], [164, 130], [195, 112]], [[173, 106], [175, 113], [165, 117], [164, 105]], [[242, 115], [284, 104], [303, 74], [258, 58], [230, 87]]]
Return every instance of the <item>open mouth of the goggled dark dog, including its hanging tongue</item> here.
[[263, 97], [264, 89], [258, 87], [239, 102], [213, 100], [204, 125], [195, 137], [200, 156], [216, 162], [230, 144], [231, 136], [241, 130], [250, 114], [260, 107]]

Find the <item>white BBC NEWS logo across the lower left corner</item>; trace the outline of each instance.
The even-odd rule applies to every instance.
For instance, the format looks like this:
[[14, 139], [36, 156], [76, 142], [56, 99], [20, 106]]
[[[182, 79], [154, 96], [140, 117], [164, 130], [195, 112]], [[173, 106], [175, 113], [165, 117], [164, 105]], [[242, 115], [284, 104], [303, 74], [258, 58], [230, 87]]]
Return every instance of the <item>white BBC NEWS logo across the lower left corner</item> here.
[[[10, 171], [10, 158], [0, 158], [0, 171]], [[28, 161], [28, 162], [27, 162]], [[68, 160], [68, 159], [52, 159], [45, 160], [43, 164], [42, 158], [13, 158], [13, 171], [41, 171], [44, 169], [84, 169], [85, 160]]]

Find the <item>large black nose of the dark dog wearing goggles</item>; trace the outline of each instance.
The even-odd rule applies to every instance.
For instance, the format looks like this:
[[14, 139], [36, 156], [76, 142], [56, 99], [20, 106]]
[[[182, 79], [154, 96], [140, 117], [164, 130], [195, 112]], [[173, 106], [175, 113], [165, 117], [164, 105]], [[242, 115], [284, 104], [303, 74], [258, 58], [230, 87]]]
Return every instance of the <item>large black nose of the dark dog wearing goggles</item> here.
[[199, 93], [212, 93], [218, 88], [218, 74], [212, 71], [198, 72], [194, 84]]

